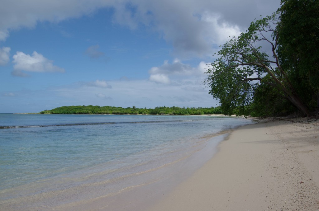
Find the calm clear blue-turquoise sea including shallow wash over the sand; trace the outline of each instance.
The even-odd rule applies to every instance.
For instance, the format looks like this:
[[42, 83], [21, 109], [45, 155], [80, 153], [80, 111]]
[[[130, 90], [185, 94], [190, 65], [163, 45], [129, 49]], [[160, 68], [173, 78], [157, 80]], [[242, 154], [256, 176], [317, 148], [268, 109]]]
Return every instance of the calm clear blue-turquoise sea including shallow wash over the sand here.
[[59, 206], [155, 182], [165, 191], [163, 184], [209, 160], [229, 131], [251, 123], [213, 115], [2, 113], [0, 207]]

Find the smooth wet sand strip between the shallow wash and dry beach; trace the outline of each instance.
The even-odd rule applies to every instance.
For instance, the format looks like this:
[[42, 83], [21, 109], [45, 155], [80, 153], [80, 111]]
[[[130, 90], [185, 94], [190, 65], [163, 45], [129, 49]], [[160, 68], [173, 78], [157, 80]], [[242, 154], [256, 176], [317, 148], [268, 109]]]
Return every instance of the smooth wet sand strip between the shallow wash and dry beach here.
[[153, 181], [145, 178], [143, 183], [128, 186], [117, 193], [59, 205], [53, 207], [53, 210], [149, 210], [149, 207], [157, 203], [162, 195], [173, 191], [177, 185], [189, 178], [200, 166], [210, 160], [212, 155], [217, 152], [217, 145], [224, 140], [228, 133], [223, 131], [216, 136], [210, 137], [210, 140], [204, 143], [206, 146], [203, 149], [186, 157], [186, 159], [181, 158], [177, 162], [161, 166], [156, 170], [150, 170], [147, 173], [154, 173], [154, 175], [146, 175], [146, 177], [156, 178]]

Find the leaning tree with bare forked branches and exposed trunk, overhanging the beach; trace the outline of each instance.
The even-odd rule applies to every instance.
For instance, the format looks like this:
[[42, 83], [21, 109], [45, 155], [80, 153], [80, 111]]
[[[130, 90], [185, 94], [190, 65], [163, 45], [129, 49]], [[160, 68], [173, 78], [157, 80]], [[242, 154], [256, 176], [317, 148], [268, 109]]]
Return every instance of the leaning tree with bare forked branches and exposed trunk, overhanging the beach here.
[[[279, 12], [252, 22], [239, 37], [231, 37], [217, 53], [219, 58], [206, 71], [204, 84], [218, 98], [223, 111], [245, 108], [253, 102], [262, 84], [281, 91], [304, 116], [311, 116], [308, 107], [298, 96], [277, 55]], [[271, 57], [264, 51], [267, 49]]]

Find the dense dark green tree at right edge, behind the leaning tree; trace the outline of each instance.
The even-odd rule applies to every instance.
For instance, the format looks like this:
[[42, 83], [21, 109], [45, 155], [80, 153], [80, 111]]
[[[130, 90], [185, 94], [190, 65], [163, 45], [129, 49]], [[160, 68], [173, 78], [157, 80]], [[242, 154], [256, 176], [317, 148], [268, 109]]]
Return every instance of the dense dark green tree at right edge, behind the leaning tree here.
[[297, 91], [319, 107], [319, 1], [281, 0], [278, 57]]

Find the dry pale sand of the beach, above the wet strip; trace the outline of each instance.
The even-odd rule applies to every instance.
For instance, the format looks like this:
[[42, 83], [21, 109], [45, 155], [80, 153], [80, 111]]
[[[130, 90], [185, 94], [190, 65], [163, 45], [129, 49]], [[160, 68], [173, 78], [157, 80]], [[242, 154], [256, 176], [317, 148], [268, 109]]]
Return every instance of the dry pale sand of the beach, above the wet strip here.
[[240, 127], [148, 210], [319, 210], [318, 128], [318, 120]]

